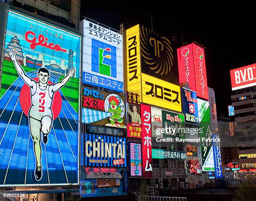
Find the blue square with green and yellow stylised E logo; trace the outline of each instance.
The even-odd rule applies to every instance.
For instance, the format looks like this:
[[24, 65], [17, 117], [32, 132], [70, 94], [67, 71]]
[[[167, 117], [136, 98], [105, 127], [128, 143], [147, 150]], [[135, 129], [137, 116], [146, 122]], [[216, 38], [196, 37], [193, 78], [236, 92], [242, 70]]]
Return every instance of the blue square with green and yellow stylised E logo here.
[[116, 47], [92, 38], [92, 71], [116, 78]]

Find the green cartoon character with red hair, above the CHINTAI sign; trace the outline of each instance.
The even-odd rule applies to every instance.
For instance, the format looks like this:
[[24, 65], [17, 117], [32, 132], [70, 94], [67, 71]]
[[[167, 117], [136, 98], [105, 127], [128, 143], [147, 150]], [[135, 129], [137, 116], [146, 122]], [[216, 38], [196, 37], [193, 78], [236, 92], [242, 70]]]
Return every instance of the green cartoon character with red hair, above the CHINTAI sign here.
[[105, 126], [122, 127], [125, 128], [123, 123], [123, 116], [125, 114], [125, 107], [123, 100], [116, 94], [110, 94], [105, 99], [105, 112], [109, 112], [110, 123]]

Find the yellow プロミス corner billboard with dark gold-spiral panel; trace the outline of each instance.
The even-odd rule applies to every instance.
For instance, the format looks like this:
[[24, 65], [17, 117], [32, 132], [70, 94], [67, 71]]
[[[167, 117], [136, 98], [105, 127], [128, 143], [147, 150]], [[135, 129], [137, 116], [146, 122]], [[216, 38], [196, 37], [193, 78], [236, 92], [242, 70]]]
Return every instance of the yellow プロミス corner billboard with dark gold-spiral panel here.
[[169, 39], [141, 25], [129, 28], [125, 34], [125, 90], [138, 94], [146, 104], [181, 112]]

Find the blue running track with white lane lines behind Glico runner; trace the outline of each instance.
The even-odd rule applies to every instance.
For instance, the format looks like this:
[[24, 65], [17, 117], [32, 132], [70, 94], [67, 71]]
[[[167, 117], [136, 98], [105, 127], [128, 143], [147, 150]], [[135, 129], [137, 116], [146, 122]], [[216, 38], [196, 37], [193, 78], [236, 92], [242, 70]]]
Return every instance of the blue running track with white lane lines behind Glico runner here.
[[[27, 75], [36, 77], [37, 71]], [[50, 81], [61, 75], [51, 73]], [[78, 114], [59, 90], [62, 107], [54, 120], [48, 143], [41, 141], [43, 176], [34, 179], [35, 156], [28, 117], [20, 106], [20, 90], [24, 82], [16, 79], [0, 99], [0, 186], [67, 184], [78, 179]]]

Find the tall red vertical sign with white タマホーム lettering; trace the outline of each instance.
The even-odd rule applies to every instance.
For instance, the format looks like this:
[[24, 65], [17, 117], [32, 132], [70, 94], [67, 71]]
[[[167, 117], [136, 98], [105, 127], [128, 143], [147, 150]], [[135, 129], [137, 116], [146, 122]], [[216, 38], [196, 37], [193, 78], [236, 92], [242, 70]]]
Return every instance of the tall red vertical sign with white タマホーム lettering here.
[[151, 107], [141, 104], [143, 178], [152, 178]]

